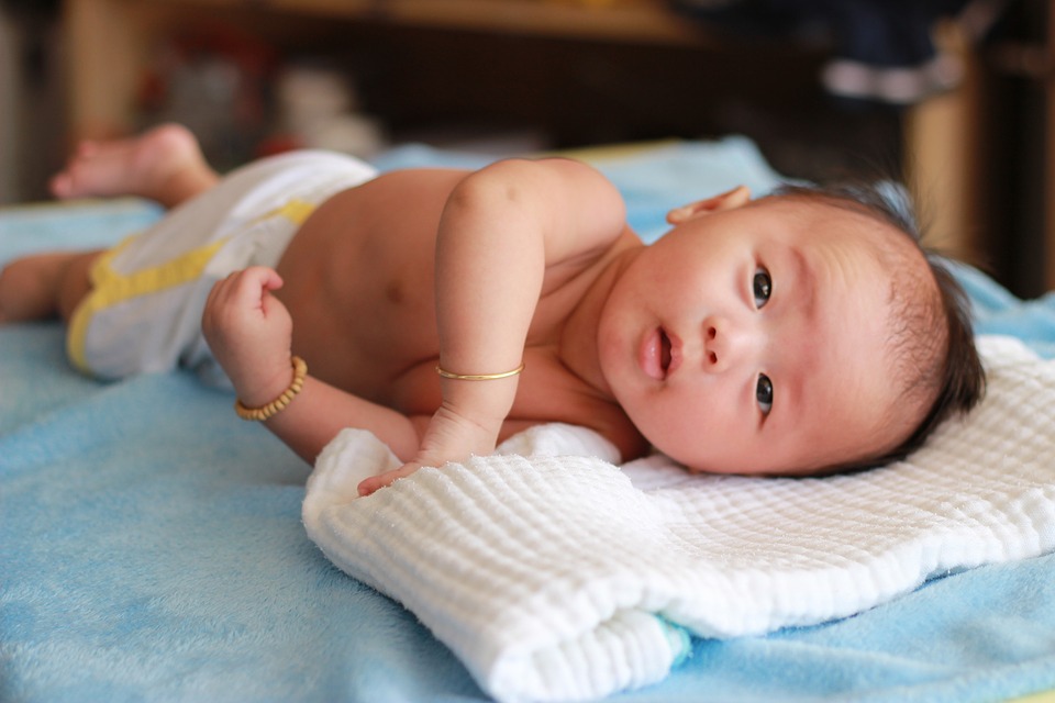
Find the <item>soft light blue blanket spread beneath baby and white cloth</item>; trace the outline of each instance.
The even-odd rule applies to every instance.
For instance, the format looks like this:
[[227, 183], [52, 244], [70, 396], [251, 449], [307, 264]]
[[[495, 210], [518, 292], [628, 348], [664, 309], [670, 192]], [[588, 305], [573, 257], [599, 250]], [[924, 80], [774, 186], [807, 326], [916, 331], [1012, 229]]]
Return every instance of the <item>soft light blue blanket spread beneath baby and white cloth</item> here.
[[[473, 155], [401, 148], [382, 168]], [[712, 191], [776, 180], [740, 138], [600, 159], [647, 236]], [[137, 201], [0, 213], [0, 261], [113, 242]], [[1055, 298], [958, 270], [979, 332], [1055, 356]], [[476, 701], [398, 603], [300, 523], [309, 467], [187, 372], [78, 376], [56, 323], [0, 327], [0, 700]], [[1053, 469], [1055, 470], [1055, 469]], [[948, 574], [855, 617], [697, 639], [619, 701], [992, 701], [1055, 689], [1055, 556]]]

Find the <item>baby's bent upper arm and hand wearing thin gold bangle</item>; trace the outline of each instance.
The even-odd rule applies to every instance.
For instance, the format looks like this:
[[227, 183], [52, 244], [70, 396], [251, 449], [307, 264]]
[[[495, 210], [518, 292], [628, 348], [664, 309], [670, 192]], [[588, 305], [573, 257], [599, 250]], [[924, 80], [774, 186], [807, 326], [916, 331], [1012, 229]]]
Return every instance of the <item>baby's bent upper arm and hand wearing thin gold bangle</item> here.
[[[440, 366], [454, 375], [517, 369], [540, 297], [624, 227], [622, 197], [585, 164], [515, 159], [466, 177], [447, 201], [436, 242]], [[443, 405], [418, 455], [359, 491], [370, 493], [420, 466], [492, 451], [519, 380], [442, 378]]]

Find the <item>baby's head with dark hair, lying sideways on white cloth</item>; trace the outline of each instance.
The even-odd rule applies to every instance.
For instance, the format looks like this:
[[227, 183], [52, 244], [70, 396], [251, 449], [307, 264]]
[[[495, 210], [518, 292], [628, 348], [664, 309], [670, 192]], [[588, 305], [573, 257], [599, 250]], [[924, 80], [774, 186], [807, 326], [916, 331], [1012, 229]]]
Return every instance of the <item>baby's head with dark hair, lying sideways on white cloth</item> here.
[[670, 221], [613, 287], [599, 342], [617, 400], [688, 467], [878, 465], [984, 392], [966, 297], [884, 191], [738, 189]]

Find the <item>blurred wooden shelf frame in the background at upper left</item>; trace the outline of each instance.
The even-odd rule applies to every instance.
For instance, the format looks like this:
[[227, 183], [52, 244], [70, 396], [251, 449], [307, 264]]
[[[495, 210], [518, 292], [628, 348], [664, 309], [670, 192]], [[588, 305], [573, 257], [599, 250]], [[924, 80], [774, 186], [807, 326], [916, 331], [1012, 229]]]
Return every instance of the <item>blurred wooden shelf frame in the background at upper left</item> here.
[[66, 0], [71, 137], [111, 136], [134, 124], [137, 77], [156, 40], [222, 12], [334, 19], [578, 41], [702, 46], [706, 33], [660, 0]]

